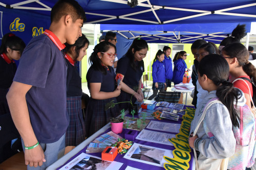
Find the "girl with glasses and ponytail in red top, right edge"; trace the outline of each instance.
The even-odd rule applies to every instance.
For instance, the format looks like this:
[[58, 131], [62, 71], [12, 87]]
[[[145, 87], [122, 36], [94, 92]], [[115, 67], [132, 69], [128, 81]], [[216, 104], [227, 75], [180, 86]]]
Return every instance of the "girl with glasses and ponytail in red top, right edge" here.
[[[244, 92], [246, 105], [251, 109], [250, 97], [252, 97], [253, 91], [250, 80], [256, 80], [256, 68], [248, 61], [249, 53], [246, 47], [238, 42], [229, 44], [222, 49], [221, 56], [228, 62], [230, 82]], [[243, 80], [234, 81], [238, 78], [245, 79], [247, 84]]]

